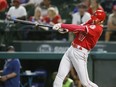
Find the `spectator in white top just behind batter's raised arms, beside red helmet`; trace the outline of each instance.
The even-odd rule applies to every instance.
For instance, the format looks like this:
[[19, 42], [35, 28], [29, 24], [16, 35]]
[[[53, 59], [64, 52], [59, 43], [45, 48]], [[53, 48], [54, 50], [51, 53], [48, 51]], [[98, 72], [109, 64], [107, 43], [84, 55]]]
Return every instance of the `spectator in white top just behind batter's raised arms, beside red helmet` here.
[[82, 24], [87, 22], [91, 15], [86, 12], [87, 6], [84, 3], [78, 5], [78, 12], [72, 15], [72, 24]]

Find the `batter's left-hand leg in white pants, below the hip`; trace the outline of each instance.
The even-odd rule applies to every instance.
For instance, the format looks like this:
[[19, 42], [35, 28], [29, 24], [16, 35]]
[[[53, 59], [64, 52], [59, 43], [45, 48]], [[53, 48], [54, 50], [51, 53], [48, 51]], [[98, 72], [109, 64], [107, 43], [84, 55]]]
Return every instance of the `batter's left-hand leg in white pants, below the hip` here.
[[63, 81], [66, 75], [69, 73], [71, 67], [72, 67], [71, 61], [68, 58], [67, 53], [65, 53], [65, 55], [63, 56], [60, 62], [58, 74], [56, 75], [53, 87], [62, 87]]

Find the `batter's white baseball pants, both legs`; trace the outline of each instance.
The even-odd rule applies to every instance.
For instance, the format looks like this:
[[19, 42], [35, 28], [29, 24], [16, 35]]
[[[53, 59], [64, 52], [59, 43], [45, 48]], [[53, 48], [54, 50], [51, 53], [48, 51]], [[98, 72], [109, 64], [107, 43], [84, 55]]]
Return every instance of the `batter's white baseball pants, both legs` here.
[[58, 74], [53, 83], [53, 87], [62, 87], [63, 81], [72, 66], [74, 66], [76, 72], [78, 73], [81, 84], [84, 87], [98, 87], [95, 83], [89, 80], [87, 71], [88, 53], [89, 52], [84, 48], [80, 50], [71, 46], [66, 51], [60, 62]]

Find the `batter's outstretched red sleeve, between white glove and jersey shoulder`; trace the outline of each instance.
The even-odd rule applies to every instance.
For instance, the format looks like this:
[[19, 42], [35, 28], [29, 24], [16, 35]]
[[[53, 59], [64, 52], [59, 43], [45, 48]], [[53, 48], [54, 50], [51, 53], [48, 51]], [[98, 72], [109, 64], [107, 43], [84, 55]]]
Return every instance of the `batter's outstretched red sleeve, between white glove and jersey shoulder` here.
[[83, 31], [88, 32], [86, 26], [75, 24], [61, 24], [63, 29], [68, 29], [69, 32]]

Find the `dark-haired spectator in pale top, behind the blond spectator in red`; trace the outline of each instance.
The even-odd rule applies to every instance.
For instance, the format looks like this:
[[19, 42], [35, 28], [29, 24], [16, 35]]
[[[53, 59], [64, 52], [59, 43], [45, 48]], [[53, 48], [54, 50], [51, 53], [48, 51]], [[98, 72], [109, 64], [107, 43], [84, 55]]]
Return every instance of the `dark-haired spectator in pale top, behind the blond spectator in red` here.
[[47, 10], [49, 7], [54, 7], [57, 14], [59, 13], [58, 12], [58, 8], [54, 5], [51, 5], [51, 0], [43, 0], [41, 3], [40, 3], [40, 8], [42, 9], [42, 16], [46, 16], [47, 15]]

